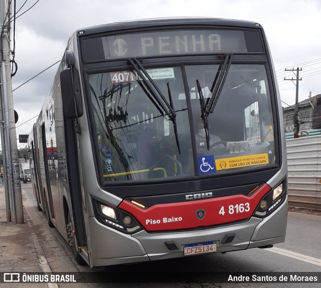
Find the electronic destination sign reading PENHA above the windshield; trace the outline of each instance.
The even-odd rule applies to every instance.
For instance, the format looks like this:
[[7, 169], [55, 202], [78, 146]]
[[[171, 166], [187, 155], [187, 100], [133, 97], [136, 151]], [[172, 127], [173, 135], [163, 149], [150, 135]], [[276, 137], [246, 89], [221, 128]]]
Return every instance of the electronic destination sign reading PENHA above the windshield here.
[[[249, 35], [251, 33], [251, 35]], [[255, 49], [247, 47], [255, 42]], [[251, 43], [247, 43], [251, 42]], [[82, 40], [85, 61], [175, 55], [263, 52], [258, 32], [171, 30], [121, 34]]]

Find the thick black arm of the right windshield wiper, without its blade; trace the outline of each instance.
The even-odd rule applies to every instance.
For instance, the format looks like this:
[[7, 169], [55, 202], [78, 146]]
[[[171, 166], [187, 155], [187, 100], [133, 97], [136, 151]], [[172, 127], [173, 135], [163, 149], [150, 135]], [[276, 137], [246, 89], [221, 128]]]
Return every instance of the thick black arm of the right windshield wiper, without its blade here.
[[226, 76], [229, 72], [231, 62], [232, 62], [232, 56], [233, 54], [226, 54], [224, 58], [224, 63], [221, 67], [221, 69], [218, 71], [217, 76], [214, 79], [214, 82], [212, 84], [212, 87], [210, 89], [211, 91], [211, 98], [206, 101], [206, 116], [208, 116], [210, 113], [213, 113], [214, 108], [216, 106], [216, 103], [218, 101], [219, 95], [222, 91], [223, 84], [226, 80]]

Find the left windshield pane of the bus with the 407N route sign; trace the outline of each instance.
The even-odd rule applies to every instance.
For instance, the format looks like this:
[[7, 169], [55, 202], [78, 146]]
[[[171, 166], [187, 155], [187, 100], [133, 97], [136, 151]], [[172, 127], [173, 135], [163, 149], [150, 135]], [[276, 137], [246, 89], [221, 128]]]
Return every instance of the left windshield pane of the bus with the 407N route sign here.
[[[96, 147], [105, 181], [142, 180], [194, 174], [191, 131], [180, 67], [146, 69], [170, 103], [173, 97], [177, 135], [169, 116], [150, 97], [135, 71], [89, 75]], [[181, 154], [176, 141], [180, 141]]]

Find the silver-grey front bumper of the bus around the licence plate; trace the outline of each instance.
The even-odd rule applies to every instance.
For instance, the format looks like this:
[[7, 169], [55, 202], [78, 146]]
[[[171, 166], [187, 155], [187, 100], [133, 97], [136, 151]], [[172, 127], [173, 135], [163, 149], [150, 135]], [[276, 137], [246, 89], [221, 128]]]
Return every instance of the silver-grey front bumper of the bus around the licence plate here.
[[[287, 198], [266, 218], [251, 217], [247, 222], [204, 230], [123, 234], [89, 218], [91, 266], [106, 266], [133, 262], [184, 257], [184, 245], [216, 241], [217, 252], [244, 250], [284, 242], [287, 223]], [[234, 234], [230, 243], [222, 243], [227, 234]], [[170, 250], [166, 242], [175, 242]]]

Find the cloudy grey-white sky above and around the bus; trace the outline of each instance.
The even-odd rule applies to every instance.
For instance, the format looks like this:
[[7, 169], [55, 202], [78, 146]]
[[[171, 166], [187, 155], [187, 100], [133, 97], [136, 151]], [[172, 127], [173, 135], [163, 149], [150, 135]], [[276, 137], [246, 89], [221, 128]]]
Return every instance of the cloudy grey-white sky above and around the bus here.
[[[321, 1], [319, 0], [37, 0], [16, 1], [13, 89], [60, 60], [72, 33], [94, 25], [159, 17], [214, 17], [254, 21], [265, 30], [277, 72], [282, 106], [295, 103], [295, 78], [302, 68], [299, 101], [321, 94]], [[23, 6], [23, 7], [22, 7]], [[21, 8], [22, 7], [22, 8]], [[23, 15], [22, 15], [23, 14]], [[13, 37], [12, 37], [13, 39]], [[11, 43], [13, 49], [14, 42]], [[58, 64], [14, 90], [16, 132], [28, 134], [42, 108]], [[24, 124], [24, 122], [28, 121]], [[18, 138], [18, 137], [17, 137]], [[18, 143], [18, 149], [25, 144]]]

